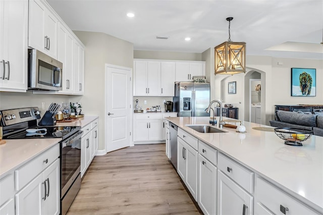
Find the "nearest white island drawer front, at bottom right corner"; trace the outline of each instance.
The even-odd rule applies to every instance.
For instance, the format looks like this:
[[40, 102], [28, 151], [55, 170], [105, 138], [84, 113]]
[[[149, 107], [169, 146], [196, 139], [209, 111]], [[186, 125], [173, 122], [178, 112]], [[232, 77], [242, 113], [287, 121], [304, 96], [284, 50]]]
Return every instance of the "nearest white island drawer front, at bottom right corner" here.
[[254, 214], [319, 214], [281, 189], [256, 177]]

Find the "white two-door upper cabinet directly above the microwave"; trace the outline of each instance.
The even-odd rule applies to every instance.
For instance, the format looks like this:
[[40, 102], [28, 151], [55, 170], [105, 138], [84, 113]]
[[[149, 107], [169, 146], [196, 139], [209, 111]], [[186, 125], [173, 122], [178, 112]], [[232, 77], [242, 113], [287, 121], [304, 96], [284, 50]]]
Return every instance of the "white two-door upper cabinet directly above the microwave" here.
[[30, 0], [28, 45], [57, 59], [58, 23], [41, 1]]

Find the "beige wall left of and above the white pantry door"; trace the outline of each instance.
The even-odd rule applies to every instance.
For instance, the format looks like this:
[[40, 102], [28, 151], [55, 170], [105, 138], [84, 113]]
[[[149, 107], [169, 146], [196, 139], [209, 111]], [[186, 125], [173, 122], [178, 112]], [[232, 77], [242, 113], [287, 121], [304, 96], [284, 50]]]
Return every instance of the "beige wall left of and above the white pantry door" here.
[[99, 145], [105, 149], [105, 64], [133, 68], [133, 44], [104, 33], [74, 31], [85, 45], [84, 95], [71, 96], [86, 115], [99, 116]]

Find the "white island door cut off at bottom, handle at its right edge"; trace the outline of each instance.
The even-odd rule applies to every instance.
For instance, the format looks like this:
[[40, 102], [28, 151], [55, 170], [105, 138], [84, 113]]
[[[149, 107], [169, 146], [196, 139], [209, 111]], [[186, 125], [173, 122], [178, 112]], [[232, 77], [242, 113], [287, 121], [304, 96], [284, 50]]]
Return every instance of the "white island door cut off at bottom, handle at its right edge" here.
[[253, 214], [253, 196], [218, 170], [218, 214]]

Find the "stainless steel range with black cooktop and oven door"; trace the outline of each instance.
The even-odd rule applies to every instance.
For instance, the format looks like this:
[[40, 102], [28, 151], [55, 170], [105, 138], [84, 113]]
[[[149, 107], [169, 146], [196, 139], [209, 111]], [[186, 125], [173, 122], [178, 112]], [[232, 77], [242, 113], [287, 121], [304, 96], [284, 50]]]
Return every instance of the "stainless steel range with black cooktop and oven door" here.
[[61, 163], [61, 214], [66, 214], [81, 187], [81, 137], [80, 126], [37, 126], [38, 108], [0, 111], [3, 139], [62, 138]]

